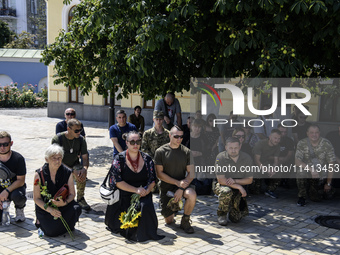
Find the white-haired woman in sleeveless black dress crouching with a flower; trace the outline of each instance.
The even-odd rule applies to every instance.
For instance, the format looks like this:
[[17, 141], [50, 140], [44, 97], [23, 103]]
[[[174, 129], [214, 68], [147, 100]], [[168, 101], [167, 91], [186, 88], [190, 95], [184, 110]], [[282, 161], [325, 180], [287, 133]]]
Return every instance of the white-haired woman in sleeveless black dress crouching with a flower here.
[[[59, 219], [60, 216], [65, 219], [69, 228], [73, 230], [81, 214], [81, 207], [74, 201], [75, 189], [72, 170], [61, 164], [63, 157], [64, 150], [62, 147], [57, 144], [50, 145], [45, 152], [47, 163], [41, 169], [36, 170], [34, 175], [33, 199], [37, 217], [36, 225], [41, 228], [46, 236], [59, 236], [67, 232], [61, 219]], [[47, 190], [52, 197], [64, 184], [68, 184], [69, 194], [65, 200], [61, 198], [52, 199], [52, 203], [58, 209], [45, 206], [48, 198], [41, 195], [38, 181], [43, 186], [45, 186], [44, 181], [47, 182]]]

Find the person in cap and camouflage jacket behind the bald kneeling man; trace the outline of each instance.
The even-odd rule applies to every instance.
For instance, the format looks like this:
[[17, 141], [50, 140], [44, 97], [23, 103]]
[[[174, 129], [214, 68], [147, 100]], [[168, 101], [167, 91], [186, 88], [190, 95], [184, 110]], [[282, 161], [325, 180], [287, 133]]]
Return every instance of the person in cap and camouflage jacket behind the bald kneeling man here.
[[169, 130], [163, 127], [164, 113], [162, 111], [153, 112], [153, 122], [155, 126], [144, 132], [142, 141], [142, 151], [154, 158], [155, 151], [162, 145], [170, 142]]

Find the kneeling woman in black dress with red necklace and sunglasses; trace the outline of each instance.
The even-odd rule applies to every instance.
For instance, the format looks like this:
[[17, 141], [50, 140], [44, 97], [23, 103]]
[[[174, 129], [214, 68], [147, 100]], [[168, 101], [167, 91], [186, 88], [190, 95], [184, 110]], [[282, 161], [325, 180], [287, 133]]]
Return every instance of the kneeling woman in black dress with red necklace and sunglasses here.
[[[157, 235], [158, 220], [152, 202], [151, 190], [155, 186], [155, 167], [152, 158], [140, 151], [141, 135], [136, 131], [123, 134], [127, 150], [117, 154], [110, 169], [110, 186], [120, 189], [120, 199], [106, 210], [105, 224], [113, 233], [120, 233], [129, 240], [143, 242], [160, 240]], [[121, 229], [119, 217], [127, 212], [131, 196], [140, 195], [141, 217], [138, 227]]]

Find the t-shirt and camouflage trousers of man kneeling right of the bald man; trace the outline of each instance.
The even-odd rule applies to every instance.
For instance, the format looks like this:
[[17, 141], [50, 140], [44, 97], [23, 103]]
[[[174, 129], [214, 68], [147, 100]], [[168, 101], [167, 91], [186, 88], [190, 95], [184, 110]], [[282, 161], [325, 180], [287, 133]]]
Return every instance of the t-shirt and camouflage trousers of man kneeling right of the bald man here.
[[[239, 158], [235, 163], [226, 151], [219, 153], [216, 157], [215, 166], [235, 166], [237, 172], [224, 172], [224, 173], [216, 173], [216, 175], [224, 175], [225, 178], [233, 178], [233, 179], [243, 179], [247, 177], [251, 177], [251, 173], [241, 173], [241, 166], [251, 166], [253, 161], [251, 157], [245, 153], [240, 151]], [[222, 186], [219, 183], [214, 185], [214, 193], [218, 196], [218, 209], [217, 215], [223, 216], [227, 215], [229, 212], [229, 219], [232, 222], [240, 221], [244, 216], [248, 215], [248, 206], [245, 198], [242, 198], [241, 192], [238, 189], [232, 189], [228, 186]]]

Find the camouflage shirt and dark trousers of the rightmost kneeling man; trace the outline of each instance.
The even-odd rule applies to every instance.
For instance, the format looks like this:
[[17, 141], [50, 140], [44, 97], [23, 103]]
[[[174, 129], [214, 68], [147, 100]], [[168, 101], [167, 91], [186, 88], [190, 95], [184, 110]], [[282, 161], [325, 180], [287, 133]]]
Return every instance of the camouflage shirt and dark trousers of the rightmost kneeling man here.
[[[318, 162], [317, 164], [319, 164], [319, 166], [315, 167], [322, 168], [324, 166], [327, 166], [327, 164], [334, 163], [336, 161], [333, 146], [327, 139], [321, 137], [319, 144], [316, 147], [313, 147], [317, 161], [315, 161], [315, 159], [312, 159], [312, 152], [310, 152], [308, 141], [309, 141], [308, 137], [299, 141], [296, 147], [295, 158], [306, 163], [309, 166], [309, 169], [311, 169], [311, 165], [313, 165], [313, 162], [314, 164], [316, 162]], [[327, 172], [325, 171], [319, 172], [319, 175], [320, 178], [327, 178]], [[324, 182], [320, 178], [312, 179], [310, 171], [307, 170], [305, 171], [304, 169], [300, 171], [298, 167], [296, 177], [297, 177], [296, 183], [299, 190], [298, 193], [299, 197], [303, 197], [304, 199], [306, 199], [307, 193], [309, 193], [309, 198], [312, 201], [320, 201], [322, 199], [319, 190], [320, 185], [324, 184]]]

